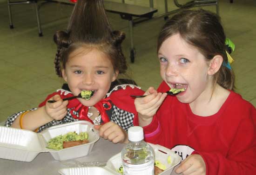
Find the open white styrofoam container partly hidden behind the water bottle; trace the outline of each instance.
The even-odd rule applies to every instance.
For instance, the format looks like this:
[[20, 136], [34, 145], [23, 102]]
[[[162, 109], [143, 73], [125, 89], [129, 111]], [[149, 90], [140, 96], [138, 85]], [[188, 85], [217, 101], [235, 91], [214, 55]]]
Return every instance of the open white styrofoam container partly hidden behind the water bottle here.
[[[166, 165], [167, 169], [159, 175], [170, 175], [176, 165], [181, 162], [181, 157], [174, 153], [174, 151], [167, 149], [161, 145], [149, 143], [155, 152], [155, 160]], [[159, 151], [161, 150], [161, 151]], [[164, 153], [163, 153], [164, 152]], [[167, 157], [171, 156], [171, 164], [167, 163]], [[61, 175], [120, 175], [117, 169], [121, 166], [121, 153], [112, 156], [105, 167], [74, 167], [60, 169]]]

